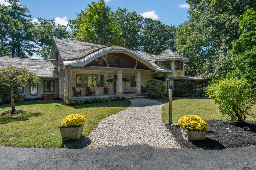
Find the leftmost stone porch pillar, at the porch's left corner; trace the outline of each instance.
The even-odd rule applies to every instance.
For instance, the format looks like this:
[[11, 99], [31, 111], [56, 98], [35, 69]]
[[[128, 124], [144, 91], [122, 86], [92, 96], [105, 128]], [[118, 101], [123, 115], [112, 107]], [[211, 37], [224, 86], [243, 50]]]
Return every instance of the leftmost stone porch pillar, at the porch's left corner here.
[[65, 77], [64, 77], [64, 101], [73, 100], [73, 90], [72, 90], [72, 69], [71, 67], [66, 67]]

